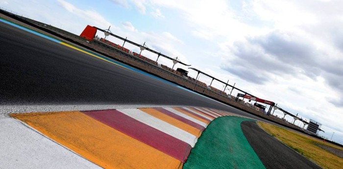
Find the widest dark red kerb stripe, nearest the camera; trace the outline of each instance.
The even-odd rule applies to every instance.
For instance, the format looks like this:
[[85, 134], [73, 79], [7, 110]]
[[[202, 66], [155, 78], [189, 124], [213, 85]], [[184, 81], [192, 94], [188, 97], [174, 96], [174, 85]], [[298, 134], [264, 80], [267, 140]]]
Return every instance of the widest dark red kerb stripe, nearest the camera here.
[[86, 111], [83, 113], [180, 160], [182, 163], [185, 163], [191, 151], [191, 145], [117, 110]]

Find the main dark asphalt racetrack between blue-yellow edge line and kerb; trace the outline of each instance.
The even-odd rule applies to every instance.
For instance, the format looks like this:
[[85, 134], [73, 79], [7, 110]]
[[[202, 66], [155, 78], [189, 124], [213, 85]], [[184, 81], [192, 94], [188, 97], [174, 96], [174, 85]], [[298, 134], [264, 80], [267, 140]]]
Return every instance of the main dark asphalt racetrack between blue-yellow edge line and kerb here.
[[8, 24], [0, 23], [0, 44], [0, 105], [154, 104], [233, 109]]

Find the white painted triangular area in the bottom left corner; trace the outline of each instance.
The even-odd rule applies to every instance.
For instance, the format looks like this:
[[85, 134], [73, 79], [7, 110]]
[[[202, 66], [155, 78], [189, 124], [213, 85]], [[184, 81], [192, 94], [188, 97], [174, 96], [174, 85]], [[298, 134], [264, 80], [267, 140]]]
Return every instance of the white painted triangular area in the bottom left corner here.
[[0, 119], [1, 169], [102, 169], [12, 118]]

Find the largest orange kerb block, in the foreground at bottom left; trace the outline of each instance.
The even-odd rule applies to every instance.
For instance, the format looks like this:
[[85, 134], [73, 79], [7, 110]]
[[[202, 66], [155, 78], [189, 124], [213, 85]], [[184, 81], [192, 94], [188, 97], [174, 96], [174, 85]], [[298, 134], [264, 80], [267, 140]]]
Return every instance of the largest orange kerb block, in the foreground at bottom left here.
[[11, 116], [105, 169], [182, 169], [179, 160], [78, 111]]

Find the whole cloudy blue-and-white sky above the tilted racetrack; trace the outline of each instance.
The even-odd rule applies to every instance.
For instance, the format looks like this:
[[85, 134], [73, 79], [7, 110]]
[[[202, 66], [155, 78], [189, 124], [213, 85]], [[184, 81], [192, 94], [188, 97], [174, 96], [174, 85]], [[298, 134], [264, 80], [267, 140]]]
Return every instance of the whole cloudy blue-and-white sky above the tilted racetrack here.
[[[343, 144], [341, 6], [342, 0], [0, 0], [2, 9], [76, 35], [87, 24], [111, 26], [114, 34], [322, 123], [319, 135], [330, 139], [335, 132], [333, 141]], [[168, 59], [158, 62], [172, 67]], [[212, 79], [200, 74], [199, 80]], [[218, 81], [212, 86], [224, 88]]]

